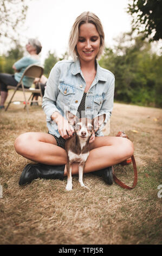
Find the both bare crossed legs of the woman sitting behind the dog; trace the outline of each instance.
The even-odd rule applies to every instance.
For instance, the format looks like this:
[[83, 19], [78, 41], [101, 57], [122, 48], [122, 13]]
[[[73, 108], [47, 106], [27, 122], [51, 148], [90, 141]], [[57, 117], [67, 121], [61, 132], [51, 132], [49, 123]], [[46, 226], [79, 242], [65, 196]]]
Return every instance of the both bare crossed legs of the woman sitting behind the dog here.
[[[25, 158], [50, 165], [67, 163], [66, 151], [56, 145], [52, 135], [29, 132], [20, 135], [15, 141], [15, 150]], [[133, 155], [133, 144], [121, 137], [96, 137], [90, 144], [90, 154], [84, 172], [93, 172], [120, 163]], [[78, 164], [73, 164], [72, 174], [78, 173]], [[64, 176], [67, 175], [66, 167]]]

